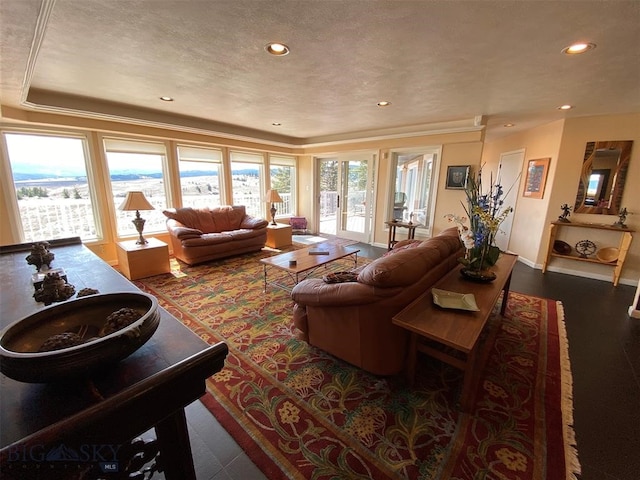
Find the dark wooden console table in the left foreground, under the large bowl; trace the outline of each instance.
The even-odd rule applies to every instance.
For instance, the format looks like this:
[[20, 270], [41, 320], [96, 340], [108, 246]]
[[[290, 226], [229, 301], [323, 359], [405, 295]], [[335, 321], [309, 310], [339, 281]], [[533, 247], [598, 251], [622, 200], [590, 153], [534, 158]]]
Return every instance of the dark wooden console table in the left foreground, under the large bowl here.
[[[35, 269], [25, 260], [30, 247], [0, 247], [2, 328], [44, 308], [33, 298]], [[64, 268], [76, 291], [138, 291], [79, 239], [52, 242], [50, 250], [55, 254], [52, 267]], [[96, 475], [91, 478], [108, 475], [109, 469], [122, 474], [125, 465], [118, 465], [112, 448], [155, 428], [165, 478], [195, 480], [184, 407], [205, 393], [205, 380], [223, 367], [228, 348], [222, 342], [209, 346], [166, 310], [160, 311], [158, 330], [145, 345], [89, 378], [30, 384], [0, 375], [4, 478], [31, 478], [36, 469], [59, 474], [60, 468], [76, 473], [93, 469]], [[61, 446], [76, 452], [99, 450], [75, 461], [44, 459]]]

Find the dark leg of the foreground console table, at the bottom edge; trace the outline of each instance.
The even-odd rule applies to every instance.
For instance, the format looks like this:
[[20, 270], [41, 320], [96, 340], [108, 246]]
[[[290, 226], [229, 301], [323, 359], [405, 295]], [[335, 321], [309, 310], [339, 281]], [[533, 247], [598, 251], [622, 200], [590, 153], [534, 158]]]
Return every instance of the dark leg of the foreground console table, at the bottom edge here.
[[160, 420], [155, 427], [160, 461], [167, 480], [196, 480], [184, 409]]

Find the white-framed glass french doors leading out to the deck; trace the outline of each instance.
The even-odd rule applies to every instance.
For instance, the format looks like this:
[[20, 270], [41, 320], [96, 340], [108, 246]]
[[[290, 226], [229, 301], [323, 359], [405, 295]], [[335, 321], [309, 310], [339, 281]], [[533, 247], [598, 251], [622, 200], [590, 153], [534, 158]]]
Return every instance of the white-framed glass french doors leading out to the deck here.
[[318, 231], [368, 243], [373, 218], [375, 155], [319, 158]]

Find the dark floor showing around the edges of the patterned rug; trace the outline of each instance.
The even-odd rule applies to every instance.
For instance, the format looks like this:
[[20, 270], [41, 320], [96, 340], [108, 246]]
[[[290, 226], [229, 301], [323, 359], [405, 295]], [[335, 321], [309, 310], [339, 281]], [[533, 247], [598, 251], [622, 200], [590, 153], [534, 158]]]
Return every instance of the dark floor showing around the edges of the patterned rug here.
[[[359, 247], [369, 258], [386, 251]], [[553, 272], [543, 275], [518, 263], [511, 289], [562, 301], [581, 479], [640, 478], [640, 320], [627, 315], [635, 288]], [[198, 479], [265, 478], [200, 402], [187, 408], [187, 420]]]

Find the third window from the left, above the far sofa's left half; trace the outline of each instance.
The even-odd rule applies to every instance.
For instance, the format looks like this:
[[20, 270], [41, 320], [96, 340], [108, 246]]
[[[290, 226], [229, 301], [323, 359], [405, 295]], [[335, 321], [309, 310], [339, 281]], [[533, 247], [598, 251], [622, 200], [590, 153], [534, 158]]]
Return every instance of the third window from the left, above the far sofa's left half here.
[[178, 168], [182, 206], [213, 208], [224, 203], [221, 150], [179, 145]]

